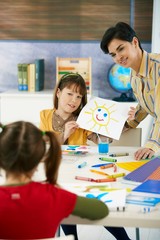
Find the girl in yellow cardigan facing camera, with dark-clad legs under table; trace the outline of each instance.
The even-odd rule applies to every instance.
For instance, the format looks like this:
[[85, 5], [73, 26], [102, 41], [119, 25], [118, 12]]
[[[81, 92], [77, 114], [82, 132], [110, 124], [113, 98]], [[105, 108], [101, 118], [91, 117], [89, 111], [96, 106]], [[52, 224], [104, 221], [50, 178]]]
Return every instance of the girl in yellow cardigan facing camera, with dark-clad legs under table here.
[[[55, 88], [54, 108], [40, 112], [40, 129], [53, 131], [61, 144], [86, 145], [87, 139], [97, 143], [96, 133], [81, 129], [76, 119], [87, 102], [87, 88], [81, 75], [64, 75]], [[100, 138], [104, 136], [100, 135]], [[124, 228], [105, 227], [116, 239], [129, 240]], [[66, 235], [73, 234], [78, 240], [75, 225], [62, 225]]]

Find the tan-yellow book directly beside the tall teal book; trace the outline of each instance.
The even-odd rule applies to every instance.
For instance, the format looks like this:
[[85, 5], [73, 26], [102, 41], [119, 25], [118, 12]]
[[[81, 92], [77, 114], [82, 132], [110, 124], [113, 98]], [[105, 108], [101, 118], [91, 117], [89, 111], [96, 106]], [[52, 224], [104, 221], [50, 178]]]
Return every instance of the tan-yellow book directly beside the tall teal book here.
[[28, 65], [28, 91], [35, 92], [36, 66], [34, 63]]

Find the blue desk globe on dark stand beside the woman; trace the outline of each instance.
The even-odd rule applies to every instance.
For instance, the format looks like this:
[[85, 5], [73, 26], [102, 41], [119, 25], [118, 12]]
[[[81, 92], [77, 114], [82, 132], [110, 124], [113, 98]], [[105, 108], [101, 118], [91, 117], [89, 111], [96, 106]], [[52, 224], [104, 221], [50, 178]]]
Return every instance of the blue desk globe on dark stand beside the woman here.
[[120, 97], [113, 98], [113, 100], [119, 102], [135, 101], [135, 99], [133, 98], [132, 88], [130, 84], [130, 74], [130, 68], [124, 68], [118, 64], [113, 64], [109, 69], [109, 84], [115, 91], [121, 93]]

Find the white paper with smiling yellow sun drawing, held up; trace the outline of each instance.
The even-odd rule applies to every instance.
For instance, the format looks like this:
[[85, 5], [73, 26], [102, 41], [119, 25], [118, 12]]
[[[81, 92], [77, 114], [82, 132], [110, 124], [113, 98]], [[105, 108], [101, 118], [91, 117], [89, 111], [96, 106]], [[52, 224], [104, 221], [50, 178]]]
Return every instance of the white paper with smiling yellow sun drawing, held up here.
[[82, 109], [77, 123], [81, 128], [118, 140], [128, 111], [122, 103], [95, 97]]

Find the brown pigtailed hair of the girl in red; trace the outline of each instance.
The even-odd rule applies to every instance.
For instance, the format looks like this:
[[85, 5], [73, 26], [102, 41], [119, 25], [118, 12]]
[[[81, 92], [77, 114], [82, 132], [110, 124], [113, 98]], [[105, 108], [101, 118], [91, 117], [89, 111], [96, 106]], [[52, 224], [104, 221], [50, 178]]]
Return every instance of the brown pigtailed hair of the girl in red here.
[[[28, 174], [43, 160], [46, 180], [56, 184], [61, 146], [53, 132], [42, 132], [30, 122], [0, 123], [0, 168], [7, 173]], [[46, 148], [46, 138], [49, 147]]]

